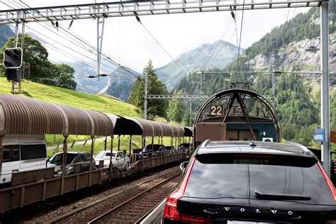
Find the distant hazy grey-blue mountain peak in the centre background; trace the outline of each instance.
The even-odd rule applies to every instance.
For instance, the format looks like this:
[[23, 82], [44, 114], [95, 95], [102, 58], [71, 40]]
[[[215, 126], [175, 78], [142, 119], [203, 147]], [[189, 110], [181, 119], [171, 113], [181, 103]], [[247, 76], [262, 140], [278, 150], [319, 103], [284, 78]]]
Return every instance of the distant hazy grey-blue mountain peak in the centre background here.
[[186, 73], [213, 67], [222, 69], [233, 62], [237, 55], [237, 46], [223, 40], [217, 40], [215, 43], [204, 44], [179, 55], [175, 60], [179, 66], [173, 61], [155, 69], [155, 72], [157, 72], [159, 79], [167, 85], [167, 88], [172, 90], [183, 77], [186, 77]]

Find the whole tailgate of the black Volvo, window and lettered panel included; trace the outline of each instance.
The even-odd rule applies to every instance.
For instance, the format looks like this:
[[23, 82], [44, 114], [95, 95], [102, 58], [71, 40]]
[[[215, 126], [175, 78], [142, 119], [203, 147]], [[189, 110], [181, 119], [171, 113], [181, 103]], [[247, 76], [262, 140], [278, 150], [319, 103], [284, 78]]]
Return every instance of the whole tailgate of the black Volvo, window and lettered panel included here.
[[313, 157], [198, 155], [177, 210], [215, 220], [335, 219], [334, 198]]

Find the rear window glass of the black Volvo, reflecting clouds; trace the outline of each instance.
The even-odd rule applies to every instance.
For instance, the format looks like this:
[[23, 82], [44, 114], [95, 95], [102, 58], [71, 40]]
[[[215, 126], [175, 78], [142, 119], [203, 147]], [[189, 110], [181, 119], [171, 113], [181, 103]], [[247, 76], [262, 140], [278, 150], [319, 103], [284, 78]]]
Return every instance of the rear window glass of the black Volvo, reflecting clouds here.
[[255, 191], [310, 196], [305, 203], [332, 200], [314, 158], [251, 154], [196, 156], [184, 196], [257, 199]]

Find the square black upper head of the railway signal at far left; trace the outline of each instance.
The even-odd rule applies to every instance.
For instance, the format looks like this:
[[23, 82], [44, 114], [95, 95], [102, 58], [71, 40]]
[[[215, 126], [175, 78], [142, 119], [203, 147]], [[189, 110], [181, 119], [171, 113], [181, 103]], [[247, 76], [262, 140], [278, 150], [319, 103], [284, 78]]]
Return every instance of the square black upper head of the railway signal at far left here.
[[23, 54], [21, 47], [6, 48], [4, 50], [4, 68], [19, 69], [22, 66]]

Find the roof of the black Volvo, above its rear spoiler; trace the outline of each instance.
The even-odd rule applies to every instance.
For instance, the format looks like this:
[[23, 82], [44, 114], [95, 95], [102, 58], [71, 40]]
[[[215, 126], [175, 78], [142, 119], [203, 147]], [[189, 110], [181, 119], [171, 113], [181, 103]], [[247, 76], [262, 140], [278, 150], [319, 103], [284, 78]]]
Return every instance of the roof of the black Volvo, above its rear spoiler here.
[[315, 157], [305, 146], [295, 142], [254, 142], [251, 141], [211, 141], [206, 140], [198, 148], [196, 155], [213, 153], [258, 153], [274, 155], [296, 155], [304, 157]]

